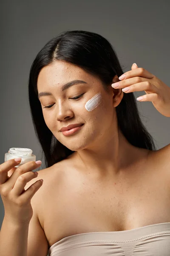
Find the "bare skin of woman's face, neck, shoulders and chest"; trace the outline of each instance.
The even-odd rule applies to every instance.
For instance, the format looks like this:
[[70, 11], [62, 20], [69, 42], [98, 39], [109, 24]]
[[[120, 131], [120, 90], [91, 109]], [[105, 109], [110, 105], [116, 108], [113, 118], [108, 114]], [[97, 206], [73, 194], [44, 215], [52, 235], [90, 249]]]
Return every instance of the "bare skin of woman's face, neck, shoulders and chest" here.
[[[87, 84], [61, 90], [75, 79]], [[25, 187], [44, 180], [31, 204], [48, 247], [80, 233], [170, 222], [170, 146], [150, 151], [127, 142], [118, 130], [115, 109], [122, 100], [122, 89], [110, 85], [106, 92], [98, 78], [64, 61], [44, 67], [37, 86], [38, 93], [53, 94], [40, 97], [46, 125], [57, 140], [75, 151], [40, 170]], [[70, 99], [82, 93], [78, 100]], [[97, 93], [102, 95], [101, 104], [87, 111], [86, 102]], [[44, 108], [48, 105], [53, 107]], [[69, 137], [59, 131], [75, 123], [84, 125]]]

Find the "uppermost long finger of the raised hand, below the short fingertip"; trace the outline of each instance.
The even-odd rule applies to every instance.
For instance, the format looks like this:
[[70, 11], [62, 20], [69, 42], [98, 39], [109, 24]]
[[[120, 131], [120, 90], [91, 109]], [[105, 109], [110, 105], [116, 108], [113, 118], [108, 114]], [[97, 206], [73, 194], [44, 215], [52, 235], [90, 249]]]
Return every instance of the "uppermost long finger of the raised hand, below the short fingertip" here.
[[[123, 75], [125, 75], [125, 78], [123, 78], [123, 79], [128, 79], [128, 78], [135, 77], [135, 76], [144, 77], [147, 79], [151, 79], [154, 77], [154, 75], [152, 73], [145, 70], [143, 67], [138, 67], [134, 70], [129, 70], [129, 71], [125, 72]], [[121, 77], [119, 77], [119, 80], [122, 80]]]

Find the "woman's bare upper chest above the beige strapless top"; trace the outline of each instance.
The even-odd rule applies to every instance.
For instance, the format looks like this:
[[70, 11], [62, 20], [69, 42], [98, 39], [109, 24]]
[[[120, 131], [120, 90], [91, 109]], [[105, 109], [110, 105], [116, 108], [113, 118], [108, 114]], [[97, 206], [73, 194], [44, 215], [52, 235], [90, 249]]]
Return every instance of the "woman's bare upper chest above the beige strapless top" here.
[[40, 213], [49, 246], [79, 233], [129, 230], [170, 222], [170, 194], [156, 174], [89, 181], [68, 176], [60, 189], [48, 186]]

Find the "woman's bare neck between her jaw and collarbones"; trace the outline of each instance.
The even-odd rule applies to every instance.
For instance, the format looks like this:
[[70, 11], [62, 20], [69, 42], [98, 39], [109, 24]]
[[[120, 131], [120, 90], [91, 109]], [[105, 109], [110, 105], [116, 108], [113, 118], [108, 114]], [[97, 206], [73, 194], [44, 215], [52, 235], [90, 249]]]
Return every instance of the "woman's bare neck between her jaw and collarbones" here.
[[110, 177], [125, 172], [137, 159], [141, 152], [146, 154], [146, 150], [136, 148], [131, 145], [122, 132], [117, 130], [109, 140], [102, 140], [98, 145], [85, 148], [74, 153], [74, 161], [88, 174], [98, 177]]

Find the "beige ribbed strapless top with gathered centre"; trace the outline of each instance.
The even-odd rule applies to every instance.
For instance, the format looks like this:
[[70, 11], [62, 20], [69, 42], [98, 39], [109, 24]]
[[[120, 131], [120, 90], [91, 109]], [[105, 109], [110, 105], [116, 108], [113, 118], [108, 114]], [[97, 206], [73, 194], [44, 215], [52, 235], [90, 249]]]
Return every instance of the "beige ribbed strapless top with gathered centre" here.
[[48, 256], [170, 256], [170, 222], [67, 236], [49, 248]]

